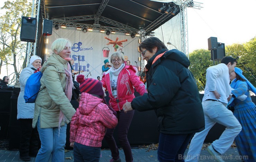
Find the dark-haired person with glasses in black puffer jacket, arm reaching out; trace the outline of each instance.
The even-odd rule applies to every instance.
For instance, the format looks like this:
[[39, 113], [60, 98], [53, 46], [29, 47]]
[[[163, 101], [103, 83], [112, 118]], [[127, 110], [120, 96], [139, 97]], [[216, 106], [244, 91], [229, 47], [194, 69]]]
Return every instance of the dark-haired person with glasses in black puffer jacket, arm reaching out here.
[[141, 42], [147, 60], [148, 93], [127, 102], [124, 111], [155, 110], [160, 129], [158, 160], [183, 160], [193, 135], [204, 129], [204, 114], [189, 59], [179, 50], [168, 51], [156, 37]]

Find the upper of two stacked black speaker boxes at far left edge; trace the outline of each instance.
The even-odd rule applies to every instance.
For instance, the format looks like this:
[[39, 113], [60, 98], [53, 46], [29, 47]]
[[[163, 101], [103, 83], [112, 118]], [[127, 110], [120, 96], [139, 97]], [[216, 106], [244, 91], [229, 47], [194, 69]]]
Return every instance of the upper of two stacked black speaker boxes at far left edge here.
[[0, 113], [10, 113], [12, 91], [0, 91]]

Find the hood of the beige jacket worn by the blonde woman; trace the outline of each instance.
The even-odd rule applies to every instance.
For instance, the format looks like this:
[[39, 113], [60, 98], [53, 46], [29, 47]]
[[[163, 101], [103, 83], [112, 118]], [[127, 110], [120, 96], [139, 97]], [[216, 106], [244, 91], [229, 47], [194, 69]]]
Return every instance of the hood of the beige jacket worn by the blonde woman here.
[[57, 55], [57, 54], [51, 54], [49, 56], [49, 58], [45, 61], [42, 69], [41, 69], [41, 73], [44, 72], [45, 68], [47, 67], [47, 65], [54, 65], [54, 67], [57, 69], [57, 71], [59, 73], [65, 73], [65, 69], [63, 68], [63, 66], [65, 68], [67, 68], [67, 60], [61, 58], [61, 56]]

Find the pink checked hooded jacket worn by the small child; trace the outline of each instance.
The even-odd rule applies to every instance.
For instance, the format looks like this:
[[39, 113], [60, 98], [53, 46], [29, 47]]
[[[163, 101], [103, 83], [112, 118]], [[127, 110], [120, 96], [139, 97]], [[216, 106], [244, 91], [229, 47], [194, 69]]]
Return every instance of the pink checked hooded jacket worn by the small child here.
[[88, 93], [82, 93], [79, 108], [70, 124], [70, 142], [91, 147], [101, 147], [106, 127], [114, 128], [117, 118], [103, 99]]

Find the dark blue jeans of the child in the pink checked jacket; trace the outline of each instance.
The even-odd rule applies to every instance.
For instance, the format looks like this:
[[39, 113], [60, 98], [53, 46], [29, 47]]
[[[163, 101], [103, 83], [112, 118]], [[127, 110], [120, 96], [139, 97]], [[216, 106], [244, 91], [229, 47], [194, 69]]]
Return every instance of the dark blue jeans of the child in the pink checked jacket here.
[[74, 143], [74, 162], [99, 162], [100, 147], [86, 146], [80, 143]]

